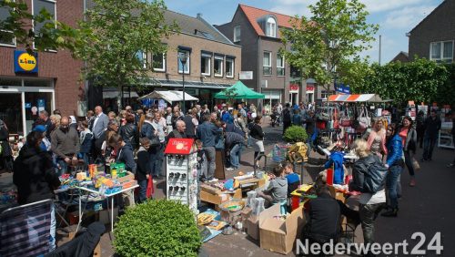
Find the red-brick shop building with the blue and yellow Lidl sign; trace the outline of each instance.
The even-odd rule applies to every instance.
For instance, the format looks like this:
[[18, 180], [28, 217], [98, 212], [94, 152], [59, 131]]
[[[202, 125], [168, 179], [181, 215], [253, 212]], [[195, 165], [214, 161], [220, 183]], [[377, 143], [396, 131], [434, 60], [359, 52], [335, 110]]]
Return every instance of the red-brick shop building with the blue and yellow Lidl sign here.
[[[82, 0], [26, 3], [32, 14], [44, 7], [70, 26], [76, 26], [84, 12]], [[0, 9], [0, 19], [7, 15], [5, 8]], [[59, 108], [64, 115], [73, 115], [78, 96], [84, 96], [84, 85], [79, 82], [82, 62], [73, 59], [68, 51], [46, 51], [31, 59], [24, 50], [25, 47], [15, 44], [15, 39], [0, 42], [0, 118], [5, 120], [10, 133], [22, 135], [31, 129], [36, 111]]]

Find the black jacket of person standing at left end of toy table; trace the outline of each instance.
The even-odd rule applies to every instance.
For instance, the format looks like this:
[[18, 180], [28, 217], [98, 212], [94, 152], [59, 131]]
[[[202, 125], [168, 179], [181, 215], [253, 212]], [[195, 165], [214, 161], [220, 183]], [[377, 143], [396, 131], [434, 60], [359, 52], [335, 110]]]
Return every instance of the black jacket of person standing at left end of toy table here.
[[15, 159], [13, 182], [19, 204], [51, 199], [60, 186], [51, 156], [29, 146], [24, 146]]

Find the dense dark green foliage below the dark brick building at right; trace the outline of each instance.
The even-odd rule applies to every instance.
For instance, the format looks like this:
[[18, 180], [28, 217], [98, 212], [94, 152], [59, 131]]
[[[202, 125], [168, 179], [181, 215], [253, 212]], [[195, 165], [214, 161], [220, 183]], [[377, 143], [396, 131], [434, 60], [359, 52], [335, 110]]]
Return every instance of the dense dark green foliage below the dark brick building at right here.
[[410, 63], [374, 64], [369, 76], [363, 79], [363, 84], [351, 89], [355, 93], [378, 94], [400, 105], [405, 105], [409, 100], [429, 103], [436, 97], [448, 75], [446, 67], [424, 58], [416, 58]]

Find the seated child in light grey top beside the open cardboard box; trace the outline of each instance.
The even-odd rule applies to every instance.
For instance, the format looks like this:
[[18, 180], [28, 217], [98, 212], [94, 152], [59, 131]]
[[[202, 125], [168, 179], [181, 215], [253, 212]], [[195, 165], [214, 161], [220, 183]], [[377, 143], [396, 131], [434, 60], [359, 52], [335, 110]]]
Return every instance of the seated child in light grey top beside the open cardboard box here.
[[284, 177], [285, 168], [278, 166], [269, 174], [270, 184], [267, 190], [259, 191], [258, 196], [267, 200], [266, 206], [270, 206], [288, 199], [288, 180]]

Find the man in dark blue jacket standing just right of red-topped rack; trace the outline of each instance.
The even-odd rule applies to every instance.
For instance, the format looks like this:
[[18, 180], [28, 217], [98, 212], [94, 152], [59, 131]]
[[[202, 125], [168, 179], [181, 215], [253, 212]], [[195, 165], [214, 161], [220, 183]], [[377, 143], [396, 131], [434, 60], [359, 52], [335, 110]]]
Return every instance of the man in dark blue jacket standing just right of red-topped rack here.
[[196, 136], [197, 139], [202, 141], [202, 148], [206, 153], [208, 160], [207, 179], [209, 181], [217, 181], [213, 178], [213, 176], [215, 175], [216, 168], [215, 139], [219, 134], [221, 134], [221, 131], [217, 128], [217, 126], [210, 122], [210, 114], [205, 115], [204, 122], [197, 127]]

